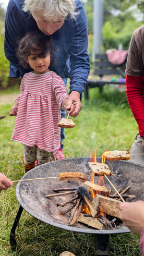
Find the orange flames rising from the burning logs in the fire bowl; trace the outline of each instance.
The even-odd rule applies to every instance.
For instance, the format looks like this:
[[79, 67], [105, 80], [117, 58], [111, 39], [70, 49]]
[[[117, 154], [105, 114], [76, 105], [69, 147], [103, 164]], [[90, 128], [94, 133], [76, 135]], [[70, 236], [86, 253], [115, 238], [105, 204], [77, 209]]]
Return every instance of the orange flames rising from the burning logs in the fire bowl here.
[[[105, 152], [107, 152], [107, 151], [105, 151]], [[102, 155], [102, 163], [105, 163], [105, 160], [106, 160], [106, 157]], [[92, 149], [91, 149], [90, 162], [96, 162], [96, 149], [95, 149], [95, 153], [94, 153], [93, 156], [92, 156]], [[91, 173], [91, 182], [95, 184], [95, 182], [94, 182], [94, 173], [93, 172]], [[102, 186], [102, 185], [105, 186], [104, 179], [103, 179], [102, 176], [99, 177], [98, 185], [99, 186]], [[99, 191], [95, 191], [93, 188], [91, 188], [91, 195], [92, 195], [93, 198], [95, 198], [96, 194], [101, 194], [101, 193]], [[107, 193], [106, 193], [106, 196], [107, 196]], [[100, 208], [101, 215], [105, 215], [104, 212], [103, 212], [103, 208], [102, 207], [99, 207], [99, 208]], [[84, 209], [83, 209], [82, 212], [86, 213], [86, 214], [91, 214], [87, 205], [84, 205]]]

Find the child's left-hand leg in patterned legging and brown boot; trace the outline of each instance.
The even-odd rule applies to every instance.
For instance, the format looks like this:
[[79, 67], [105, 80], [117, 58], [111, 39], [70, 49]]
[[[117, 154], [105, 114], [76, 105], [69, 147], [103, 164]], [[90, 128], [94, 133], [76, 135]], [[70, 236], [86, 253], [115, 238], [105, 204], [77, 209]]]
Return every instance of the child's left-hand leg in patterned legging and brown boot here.
[[36, 160], [36, 146], [24, 145], [24, 167], [25, 172], [35, 167]]

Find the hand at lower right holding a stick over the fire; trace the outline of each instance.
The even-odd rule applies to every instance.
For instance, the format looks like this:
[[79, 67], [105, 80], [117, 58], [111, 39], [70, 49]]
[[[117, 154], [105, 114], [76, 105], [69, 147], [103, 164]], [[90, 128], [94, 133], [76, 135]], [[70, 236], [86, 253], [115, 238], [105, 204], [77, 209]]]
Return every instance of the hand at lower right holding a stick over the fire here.
[[144, 226], [144, 202], [121, 203], [119, 208], [123, 224], [133, 233], [140, 235]]

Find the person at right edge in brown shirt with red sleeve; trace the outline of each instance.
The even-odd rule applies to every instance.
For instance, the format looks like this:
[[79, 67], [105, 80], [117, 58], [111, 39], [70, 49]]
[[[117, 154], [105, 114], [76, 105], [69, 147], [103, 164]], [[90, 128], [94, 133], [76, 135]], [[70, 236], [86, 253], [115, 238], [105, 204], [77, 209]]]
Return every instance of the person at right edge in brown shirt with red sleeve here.
[[[132, 35], [125, 73], [126, 95], [139, 129], [130, 154], [144, 154], [144, 25]], [[133, 155], [131, 161], [144, 165], [144, 155]]]

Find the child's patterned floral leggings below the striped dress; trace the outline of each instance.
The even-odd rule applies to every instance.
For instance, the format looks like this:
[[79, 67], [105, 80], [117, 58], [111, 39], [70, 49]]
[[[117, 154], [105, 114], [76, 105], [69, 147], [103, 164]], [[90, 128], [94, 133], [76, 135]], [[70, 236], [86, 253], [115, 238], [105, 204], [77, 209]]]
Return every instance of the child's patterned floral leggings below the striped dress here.
[[50, 161], [50, 152], [37, 146], [24, 145], [24, 163], [33, 164], [36, 159], [39, 161], [39, 164], [48, 163]]

